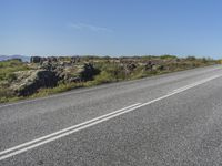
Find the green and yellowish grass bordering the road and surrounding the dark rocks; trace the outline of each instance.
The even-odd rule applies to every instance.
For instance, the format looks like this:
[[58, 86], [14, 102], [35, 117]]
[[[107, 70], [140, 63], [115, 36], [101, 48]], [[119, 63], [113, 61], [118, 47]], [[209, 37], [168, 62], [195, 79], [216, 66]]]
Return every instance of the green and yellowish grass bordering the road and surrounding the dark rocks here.
[[[171, 59], [172, 56], [165, 55], [162, 59]], [[194, 69], [198, 66], [205, 66], [210, 64], [215, 64], [214, 61], [205, 59], [194, 59], [188, 58], [179, 63], [170, 63], [164, 65], [159, 65], [155, 70], [147, 71], [144, 66], [137, 66], [129, 73], [125, 73], [124, 66], [120, 63], [104, 63], [102, 61], [94, 63], [95, 68], [101, 72], [95, 75], [91, 81], [75, 82], [75, 83], [59, 83], [58, 86], [51, 89], [39, 89], [34, 94], [30, 96], [14, 96], [14, 94], [8, 89], [10, 83], [16, 80], [14, 72], [30, 70], [27, 63], [20, 62], [18, 60], [0, 62], [0, 103], [14, 102], [19, 100], [37, 98], [43, 97], [57, 93], [62, 93], [65, 91], [80, 89], [80, 87], [91, 87], [95, 85], [101, 85], [105, 83], [138, 80], [142, 77], [160, 75], [176, 71], [183, 71], [188, 69]], [[168, 68], [168, 69], [167, 69]]]

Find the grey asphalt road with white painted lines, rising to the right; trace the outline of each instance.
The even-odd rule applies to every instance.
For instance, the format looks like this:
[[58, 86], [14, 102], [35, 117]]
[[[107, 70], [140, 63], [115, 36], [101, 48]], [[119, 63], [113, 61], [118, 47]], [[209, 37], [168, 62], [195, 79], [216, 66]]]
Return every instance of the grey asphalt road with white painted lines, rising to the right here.
[[221, 143], [221, 65], [0, 105], [1, 166], [212, 166]]

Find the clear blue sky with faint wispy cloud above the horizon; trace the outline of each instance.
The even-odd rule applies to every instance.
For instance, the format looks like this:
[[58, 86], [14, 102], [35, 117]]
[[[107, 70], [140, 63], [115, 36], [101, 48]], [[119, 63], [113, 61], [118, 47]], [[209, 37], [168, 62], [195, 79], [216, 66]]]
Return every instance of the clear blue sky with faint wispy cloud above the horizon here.
[[221, 0], [0, 0], [0, 54], [222, 55]]

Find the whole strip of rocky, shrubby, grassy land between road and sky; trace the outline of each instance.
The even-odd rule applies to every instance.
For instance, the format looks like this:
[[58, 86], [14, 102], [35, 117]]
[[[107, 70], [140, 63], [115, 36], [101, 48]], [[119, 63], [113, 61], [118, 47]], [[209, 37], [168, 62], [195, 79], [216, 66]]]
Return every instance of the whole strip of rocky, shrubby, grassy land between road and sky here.
[[0, 103], [218, 64], [195, 56], [32, 56], [0, 62]]

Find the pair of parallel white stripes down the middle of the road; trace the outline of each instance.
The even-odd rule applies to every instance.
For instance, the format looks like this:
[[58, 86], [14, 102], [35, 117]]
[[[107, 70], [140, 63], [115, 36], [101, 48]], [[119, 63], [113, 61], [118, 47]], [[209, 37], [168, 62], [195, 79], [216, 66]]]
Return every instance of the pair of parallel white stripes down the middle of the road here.
[[[124, 113], [134, 111], [134, 110], [137, 110], [137, 108], [139, 108], [139, 107], [142, 107], [142, 106], [152, 104], [152, 103], [154, 103], [154, 102], [161, 101], [161, 100], [167, 98], [167, 97], [169, 97], [169, 96], [172, 96], [172, 95], [174, 95], [174, 94], [184, 92], [184, 91], [186, 91], [186, 90], [189, 90], [189, 89], [195, 87], [195, 86], [198, 86], [198, 85], [200, 85], [200, 84], [206, 83], [206, 82], [212, 81], [212, 80], [214, 80], [214, 79], [218, 79], [218, 77], [220, 77], [220, 76], [221, 76], [221, 75], [215, 75], [215, 76], [212, 76], [212, 77], [210, 77], [210, 79], [202, 80], [202, 81], [200, 81], [200, 82], [198, 82], [198, 83], [191, 84], [190, 86], [184, 86], [183, 89], [181, 89], [181, 90], [179, 90], [179, 91], [174, 91], [174, 92], [172, 92], [172, 93], [170, 93], [170, 94], [163, 95], [163, 96], [161, 96], [161, 97], [158, 97], [158, 98], [155, 98], [155, 100], [152, 100], [152, 101], [147, 102], [147, 103], [143, 103], [143, 104], [140, 104], [140, 103], [133, 104], [133, 105], [135, 105], [135, 106], [133, 106], [133, 107], [131, 106], [131, 108], [127, 108], [127, 107], [125, 107], [125, 108], [122, 108], [122, 111], [121, 111], [121, 110], [117, 111], [115, 113], [112, 112], [112, 113], [110, 113], [109, 116], [108, 116], [108, 115], [102, 115], [103, 117], [101, 117], [101, 116], [100, 116], [100, 117], [97, 117], [98, 121], [97, 121], [95, 118], [93, 118], [94, 121], [91, 120], [91, 121], [88, 121], [88, 123], [82, 123], [82, 124], [85, 124], [85, 125], [82, 125], [82, 126], [81, 126], [80, 124], [79, 124], [79, 125], [75, 125], [75, 126], [80, 126], [80, 127], [78, 127], [78, 128], [73, 128], [73, 129], [71, 129], [71, 131], [68, 131], [68, 128], [62, 129], [62, 131], [68, 131], [68, 132], [63, 132], [62, 134], [56, 135], [54, 133], [52, 133], [52, 134], [50, 134], [50, 135], [52, 135], [52, 136], [56, 135], [54, 137], [51, 136], [51, 137], [48, 138], [48, 139], [43, 139], [42, 142], [39, 142], [39, 143], [37, 143], [37, 144], [32, 144], [32, 145], [30, 145], [30, 146], [28, 146], [28, 147], [21, 148], [21, 147], [23, 147], [24, 144], [29, 145], [30, 142], [24, 143], [24, 144], [21, 144], [21, 145], [18, 145], [18, 146], [14, 146], [14, 147], [9, 148], [9, 149], [6, 149], [6, 151], [3, 151], [3, 152], [0, 152], [0, 154], [2, 154], [1, 157], [0, 157], [0, 160], [3, 160], [3, 159], [6, 159], [6, 158], [9, 158], [9, 157], [14, 156], [14, 155], [20, 154], [20, 153], [23, 153], [23, 152], [26, 152], [26, 151], [32, 149], [32, 148], [38, 147], [38, 146], [40, 146], [40, 145], [50, 143], [50, 142], [56, 141], [56, 139], [58, 139], [58, 138], [64, 137], [64, 136], [67, 136], [67, 135], [70, 135], [70, 134], [72, 134], [72, 133], [75, 133], [75, 132], [78, 132], [78, 131], [88, 128], [88, 127], [90, 127], [90, 126], [93, 126], [93, 125], [99, 124], [99, 123], [101, 123], [101, 122], [104, 122], [104, 121], [108, 121], [108, 120], [110, 120], [110, 118], [117, 117], [117, 116], [122, 115], [122, 114], [124, 114]], [[128, 107], [130, 107], [130, 106], [128, 106]], [[89, 122], [91, 122], [91, 123], [89, 123]], [[72, 126], [72, 127], [73, 127], [73, 126]], [[69, 128], [71, 128], [71, 127], [69, 127]], [[61, 131], [56, 132], [56, 133], [61, 133]], [[49, 137], [49, 135], [47, 135], [47, 136], [44, 136], [44, 137]], [[41, 141], [42, 137], [41, 137], [41, 138], [38, 138], [38, 139]], [[31, 142], [36, 143], [37, 139], [31, 141]], [[18, 149], [18, 147], [20, 147], [21, 149]], [[14, 151], [14, 152], [9, 153], [9, 152], [11, 152], [11, 151]], [[6, 154], [6, 153], [9, 153], [9, 154]], [[3, 154], [6, 154], [6, 155], [3, 155]]]

